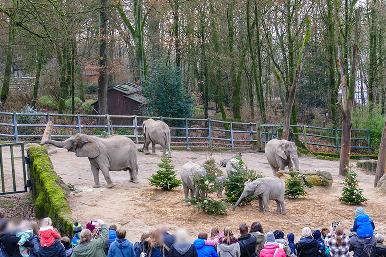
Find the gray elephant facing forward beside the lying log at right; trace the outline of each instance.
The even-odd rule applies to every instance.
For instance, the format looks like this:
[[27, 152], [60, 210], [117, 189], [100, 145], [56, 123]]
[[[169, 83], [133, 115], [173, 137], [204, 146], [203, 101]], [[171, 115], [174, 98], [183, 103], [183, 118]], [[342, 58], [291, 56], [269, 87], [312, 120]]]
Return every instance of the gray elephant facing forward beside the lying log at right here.
[[265, 145], [265, 156], [274, 173], [284, 171], [284, 167], [292, 168], [295, 164], [299, 170], [299, 156], [294, 142], [272, 139]]

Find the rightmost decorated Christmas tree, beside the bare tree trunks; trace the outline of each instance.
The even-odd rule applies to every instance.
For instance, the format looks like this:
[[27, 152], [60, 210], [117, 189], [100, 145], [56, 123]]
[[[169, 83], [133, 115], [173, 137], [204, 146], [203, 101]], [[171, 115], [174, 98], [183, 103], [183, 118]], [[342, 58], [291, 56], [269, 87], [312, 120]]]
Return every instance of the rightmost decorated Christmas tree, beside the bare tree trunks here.
[[351, 204], [360, 204], [367, 201], [366, 198], [362, 196], [362, 188], [359, 188], [359, 181], [356, 179], [357, 174], [352, 171], [349, 167], [343, 181], [343, 193], [339, 197], [340, 202], [351, 205]]

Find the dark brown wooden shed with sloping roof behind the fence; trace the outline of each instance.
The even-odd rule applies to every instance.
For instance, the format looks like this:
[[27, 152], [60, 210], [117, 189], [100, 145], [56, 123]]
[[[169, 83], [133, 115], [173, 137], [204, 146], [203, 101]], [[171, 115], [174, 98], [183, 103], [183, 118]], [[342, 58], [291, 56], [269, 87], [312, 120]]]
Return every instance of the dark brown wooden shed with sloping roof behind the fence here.
[[[141, 95], [142, 87], [131, 82], [122, 85], [114, 85], [107, 90], [107, 113], [110, 115], [141, 115], [142, 106], [147, 100]], [[98, 113], [98, 102], [92, 104]], [[128, 124], [124, 118], [112, 118], [111, 122], [116, 125]]]

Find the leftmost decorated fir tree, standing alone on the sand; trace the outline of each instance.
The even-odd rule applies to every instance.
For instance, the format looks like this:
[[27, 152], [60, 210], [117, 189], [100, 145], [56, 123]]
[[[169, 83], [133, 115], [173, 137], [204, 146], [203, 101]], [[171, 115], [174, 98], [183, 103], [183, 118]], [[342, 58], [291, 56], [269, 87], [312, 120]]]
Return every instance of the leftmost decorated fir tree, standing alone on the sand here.
[[162, 190], [171, 191], [181, 185], [181, 180], [176, 178], [176, 171], [173, 162], [170, 158], [162, 158], [162, 163], [158, 164], [159, 169], [155, 174], [151, 175], [149, 179], [152, 186], [160, 187]]

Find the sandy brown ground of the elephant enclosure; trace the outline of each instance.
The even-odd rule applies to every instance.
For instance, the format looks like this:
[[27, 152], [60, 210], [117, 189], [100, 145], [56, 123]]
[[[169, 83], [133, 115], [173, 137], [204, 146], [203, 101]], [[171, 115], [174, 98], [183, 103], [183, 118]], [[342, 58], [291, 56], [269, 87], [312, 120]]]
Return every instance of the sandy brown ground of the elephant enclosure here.
[[[138, 148], [140, 146], [138, 145]], [[20, 153], [18, 153], [20, 154]], [[301, 157], [301, 170], [318, 169], [331, 172], [333, 185], [329, 188], [314, 187], [307, 189], [306, 199], [286, 199], [288, 210], [286, 215], [275, 214], [276, 204], [270, 201], [270, 214], [258, 212], [258, 203], [238, 207], [235, 212], [228, 208], [227, 216], [216, 216], [202, 213], [193, 206], [184, 206], [182, 187], [173, 192], [163, 192], [149, 185], [148, 178], [157, 169], [160, 162], [160, 149], [156, 156], [138, 153], [139, 184], [128, 183], [127, 171], [111, 171], [111, 179], [116, 183], [112, 189], [105, 188], [106, 182], [100, 173], [101, 188], [92, 188], [94, 184], [89, 161], [87, 158], [77, 158], [74, 153], [65, 149], [51, 156], [54, 169], [66, 184], [75, 186], [77, 193], [68, 199], [72, 208], [72, 217], [87, 223], [97, 218], [106, 224], [116, 224], [128, 230], [127, 238], [138, 241], [140, 235], [160, 224], [165, 224], [171, 232], [178, 227], [185, 227], [195, 238], [199, 232], [209, 232], [210, 227], [223, 229], [230, 226], [238, 234], [241, 222], [251, 224], [259, 221], [265, 231], [280, 229], [285, 233], [293, 232], [299, 239], [301, 229], [309, 226], [311, 229], [329, 226], [333, 221], [340, 221], [344, 228], [352, 226], [357, 206], [341, 204], [338, 197], [342, 192], [343, 178], [338, 175], [337, 161], [319, 160], [313, 157]], [[216, 161], [231, 158], [236, 155], [233, 151], [214, 152]], [[179, 173], [181, 167], [188, 161], [202, 164], [209, 156], [207, 151], [173, 151], [173, 163]], [[243, 160], [249, 168], [261, 172], [265, 176], [272, 175], [272, 171], [263, 153], [252, 151], [243, 152]], [[373, 188], [374, 176], [368, 172], [358, 171], [360, 186], [364, 189], [364, 196], [368, 202], [364, 205], [376, 225], [376, 232], [386, 234], [386, 201]], [[179, 174], [177, 175], [179, 177]], [[19, 180], [19, 182], [22, 180]]]

